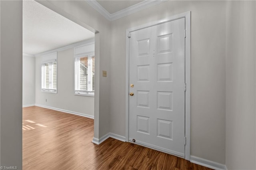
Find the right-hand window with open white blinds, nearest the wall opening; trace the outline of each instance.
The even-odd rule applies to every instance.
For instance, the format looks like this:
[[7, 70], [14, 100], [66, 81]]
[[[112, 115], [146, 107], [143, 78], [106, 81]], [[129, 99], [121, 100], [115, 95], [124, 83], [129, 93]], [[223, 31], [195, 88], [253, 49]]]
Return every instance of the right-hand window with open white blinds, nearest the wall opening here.
[[94, 95], [94, 55], [75, 57], [75, 93]]

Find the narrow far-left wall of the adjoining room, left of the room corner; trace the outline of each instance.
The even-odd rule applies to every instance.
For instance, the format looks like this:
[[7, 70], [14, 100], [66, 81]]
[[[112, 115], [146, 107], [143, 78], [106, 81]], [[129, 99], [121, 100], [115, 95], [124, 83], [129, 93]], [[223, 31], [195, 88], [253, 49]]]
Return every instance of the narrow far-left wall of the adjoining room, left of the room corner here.
[[22, 106], [35, 105], [35, 57], [23, 56]]

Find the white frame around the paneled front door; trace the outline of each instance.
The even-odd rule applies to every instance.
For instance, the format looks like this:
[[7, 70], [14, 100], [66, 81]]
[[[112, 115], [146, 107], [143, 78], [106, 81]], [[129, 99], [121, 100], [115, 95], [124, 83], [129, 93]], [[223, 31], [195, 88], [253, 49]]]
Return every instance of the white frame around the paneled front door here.
[[[151, 22], [134, 28], [126, 30], [126, 130], [125, 130], [125, 140], [129, 141], [129, 33], [150, 26], [155, 26], [165, 22], [170, 22], [172, 20], [177, 20], [179, 18], [185, 18], [185, 29], [186, 29], [186, 38], [185, 38], [185, 83], [186, 83], [186, 92], [185, 92], [185, 136], [186, 136], [186, 145], [185, 145], [185, 159], [190, 161], [190, 27], [191, 27], [191, 12], [184, 12], [182, 14], [177, 14], [163, 20], [158, 20], [156, 22]], [[185, 32], [184, 32], [185, 34]]]

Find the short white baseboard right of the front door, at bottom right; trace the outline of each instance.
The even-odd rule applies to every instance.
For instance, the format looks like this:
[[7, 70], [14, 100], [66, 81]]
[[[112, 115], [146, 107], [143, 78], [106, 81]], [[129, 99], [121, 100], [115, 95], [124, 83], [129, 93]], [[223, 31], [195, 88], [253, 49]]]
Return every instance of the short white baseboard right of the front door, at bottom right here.
[[224, 164], [220, 164], [217, 162], [213, 162], [211, 160], [198, 158], [196, 156], [190, 156], [190, 162], [198, 165], [202, 165], [208, 168], [212, 168], [214, 170], [226, 170], [226, 166]]

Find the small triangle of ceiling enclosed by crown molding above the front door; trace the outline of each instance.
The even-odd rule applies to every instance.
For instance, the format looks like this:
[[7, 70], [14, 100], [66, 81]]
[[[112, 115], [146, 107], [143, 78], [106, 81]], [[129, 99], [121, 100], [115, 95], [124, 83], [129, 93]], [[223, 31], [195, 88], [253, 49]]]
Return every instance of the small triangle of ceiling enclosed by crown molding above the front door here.
[[120, 10], [133, 6], [143, 0], [96, 0], [110, 14], [114, 14]]

